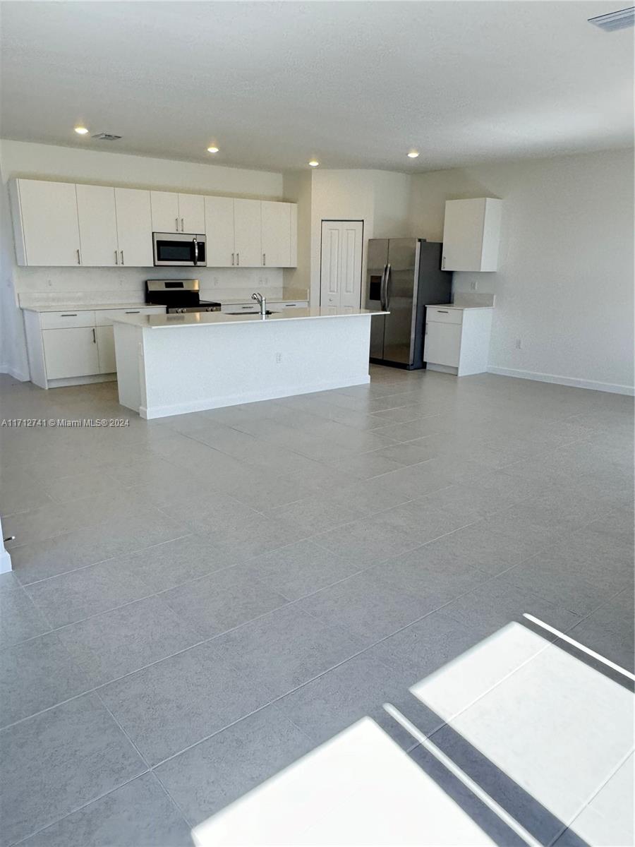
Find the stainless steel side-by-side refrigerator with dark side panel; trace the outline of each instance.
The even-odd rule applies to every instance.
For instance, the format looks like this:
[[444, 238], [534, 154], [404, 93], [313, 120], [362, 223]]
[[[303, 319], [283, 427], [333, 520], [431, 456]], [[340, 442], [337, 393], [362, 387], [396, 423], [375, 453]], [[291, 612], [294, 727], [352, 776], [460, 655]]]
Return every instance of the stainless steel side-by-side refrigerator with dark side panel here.
[[449, 303], [452, 274], [441, 270], [441, 247], [422, 238], [368, 240], [368, 309], [383, 309], [371, 322], [371, 362], [423, 368], [426, 303]]

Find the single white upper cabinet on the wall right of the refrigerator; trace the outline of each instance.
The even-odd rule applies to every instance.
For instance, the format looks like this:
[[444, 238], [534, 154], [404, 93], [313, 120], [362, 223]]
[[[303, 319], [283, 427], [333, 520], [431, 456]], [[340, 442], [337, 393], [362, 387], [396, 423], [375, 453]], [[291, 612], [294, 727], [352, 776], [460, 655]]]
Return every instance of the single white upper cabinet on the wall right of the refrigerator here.
[[443, 230], [444, 270], [498, 268], [502, 201], [493, 197], [447, 200]]

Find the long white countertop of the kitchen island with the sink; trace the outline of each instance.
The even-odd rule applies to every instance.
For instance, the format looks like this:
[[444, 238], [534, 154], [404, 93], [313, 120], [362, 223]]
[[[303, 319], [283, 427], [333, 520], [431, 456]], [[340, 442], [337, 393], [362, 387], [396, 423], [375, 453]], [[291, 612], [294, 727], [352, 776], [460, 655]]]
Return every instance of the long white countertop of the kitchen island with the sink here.
[[356, 316], [385, 315], [387, 312], [370, 309], [284, 309], [262, 317], [259, 313], [230, 314], [227, 312], [186, 312], [185, 314], [121, 315], [113, 318], [116, 324], [131, 324], [142, 329], [168, 329], [179, 326], [217, 326], [220, 324], [274, 324], [278, 321], [312, 320], [313, 318], [355, 318]]

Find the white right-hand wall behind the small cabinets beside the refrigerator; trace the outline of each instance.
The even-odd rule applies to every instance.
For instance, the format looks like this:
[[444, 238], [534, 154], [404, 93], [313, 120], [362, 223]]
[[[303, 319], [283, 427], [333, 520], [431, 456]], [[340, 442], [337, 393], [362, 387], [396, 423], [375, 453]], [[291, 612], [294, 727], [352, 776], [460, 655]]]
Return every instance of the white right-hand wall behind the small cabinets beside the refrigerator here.
[[496, 295], [490, 368], [632, 389], [632, 151], [417, 174], [413, 232], [440, 241], [445, 200], [461, 197], [504, 201], [499, 270], [455, 274], [455, 291]]

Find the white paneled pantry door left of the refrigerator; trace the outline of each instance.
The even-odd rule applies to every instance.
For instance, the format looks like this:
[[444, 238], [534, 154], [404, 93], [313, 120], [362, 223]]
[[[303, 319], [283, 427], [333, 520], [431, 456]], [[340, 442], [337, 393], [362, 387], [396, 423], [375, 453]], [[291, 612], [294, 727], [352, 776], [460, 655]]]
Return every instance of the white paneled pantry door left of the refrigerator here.
[[358, 309], [362, 301], [361, 220], [323, 220], [320, 305]]

